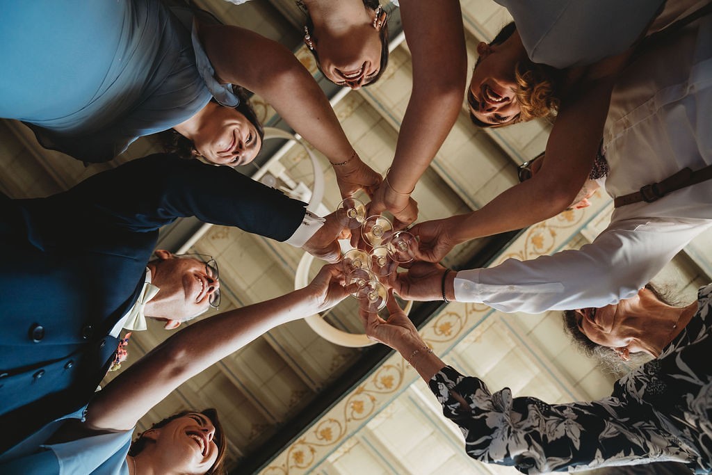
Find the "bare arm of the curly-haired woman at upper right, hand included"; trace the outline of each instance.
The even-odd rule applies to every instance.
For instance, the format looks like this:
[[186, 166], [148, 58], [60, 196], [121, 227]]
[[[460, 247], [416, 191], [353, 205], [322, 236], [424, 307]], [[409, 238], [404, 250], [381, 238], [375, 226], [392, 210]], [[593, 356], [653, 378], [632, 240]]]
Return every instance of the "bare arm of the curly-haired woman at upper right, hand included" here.
[[577, 197], [591, 171], [608, 113], [614, 75], [562, 106], [546, 145], [541, 169], [481, 209], [426, 221], [412, 229], [421, 240], [419, 259], [438, 262], [456, 245], [521, 229], [555, 216]]

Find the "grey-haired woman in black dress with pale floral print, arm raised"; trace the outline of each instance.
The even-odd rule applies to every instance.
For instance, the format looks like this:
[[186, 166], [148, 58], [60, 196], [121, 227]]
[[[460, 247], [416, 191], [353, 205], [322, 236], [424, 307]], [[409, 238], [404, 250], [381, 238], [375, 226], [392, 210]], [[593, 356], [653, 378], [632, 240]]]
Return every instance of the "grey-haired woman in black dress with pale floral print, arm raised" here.
[[[454, 288], [445, 293], [454, 297]], [[392, 298], [387, 321], [361, 317], [367, 335], [401, 353], [429, 384], [474, 459], [525, 474], [654, 461], [678, 461], [706, 474], [712, 471], [711, 308], [712, 284], [681, 308], [643, 288], [617, 304], [568, 312], [567, 326], [593, 343], [622, 358], [646, 353], [654, 360], [618, 380], [611, 396], [567, 404], [513, 397], [507, 387], [491, 392], [477, 377], [461, 375], [429, 350]]]

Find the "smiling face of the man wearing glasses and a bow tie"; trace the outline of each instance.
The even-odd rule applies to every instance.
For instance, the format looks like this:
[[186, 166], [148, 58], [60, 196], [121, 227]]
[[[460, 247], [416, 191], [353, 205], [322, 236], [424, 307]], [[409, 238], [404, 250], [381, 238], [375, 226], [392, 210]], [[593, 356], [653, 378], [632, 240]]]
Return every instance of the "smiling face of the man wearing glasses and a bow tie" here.
[[[207, 272], [205, 263], [179, 258], [163, 250], [155, 254], [159, 260], [152, 261], [149, 267], [152, 283], [160, 290], [147, 303], [146, 315], [180, 323], [206, 311], [210, 296], [219, 290], [220, 282]], [[167, 325], [167, 328], [172, 327]]]

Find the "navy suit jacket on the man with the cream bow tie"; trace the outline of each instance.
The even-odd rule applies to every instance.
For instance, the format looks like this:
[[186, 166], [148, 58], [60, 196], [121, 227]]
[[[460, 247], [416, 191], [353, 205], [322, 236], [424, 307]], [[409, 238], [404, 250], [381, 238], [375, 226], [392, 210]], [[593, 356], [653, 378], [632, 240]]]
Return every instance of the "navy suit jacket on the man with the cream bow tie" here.
[[[27, 433], [86, 404], [103, 379], [118, 345], [108, 333], [136, 301], [161, 226], [197, 216], [284, 241], [305, 214], [233, 169], [172, 155], [47, 198], [0, 194], [0, 206], [0, 427]], [[0, 451], [23, 435], [2, 433]]]

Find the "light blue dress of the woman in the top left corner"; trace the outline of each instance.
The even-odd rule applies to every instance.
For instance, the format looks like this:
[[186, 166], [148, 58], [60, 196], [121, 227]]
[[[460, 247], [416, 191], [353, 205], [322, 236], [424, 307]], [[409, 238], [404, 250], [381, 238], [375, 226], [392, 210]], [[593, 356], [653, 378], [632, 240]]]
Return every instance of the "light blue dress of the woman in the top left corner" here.
[[[186, 24], [187, 23], [187, 24]], [[167, 130], [212, 94], [183, 22], [158, 0], [31, 0], [0, 5], [0, 117], [44, 147], [104, 162]], [[197, 38], [194, 38], [197, 40]]]

